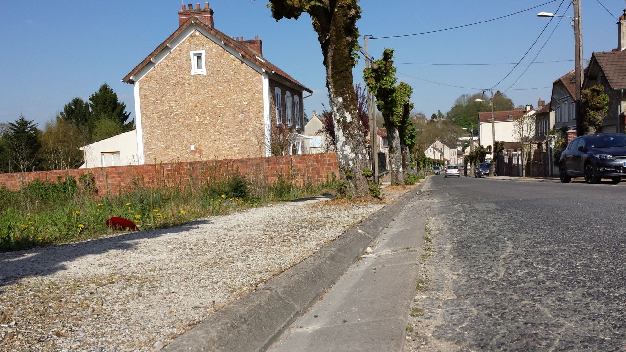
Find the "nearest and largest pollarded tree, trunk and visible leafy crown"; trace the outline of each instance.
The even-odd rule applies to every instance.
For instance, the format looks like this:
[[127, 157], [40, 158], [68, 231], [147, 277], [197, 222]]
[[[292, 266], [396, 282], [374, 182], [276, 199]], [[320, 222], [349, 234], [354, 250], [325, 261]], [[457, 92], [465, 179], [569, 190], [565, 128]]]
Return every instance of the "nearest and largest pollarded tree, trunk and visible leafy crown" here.
[[322, 46], [326, 66], [326, 87], [331, 103], [341, 178], [352, 196], [369, 192], [363, 170], [369, 168], [362, 124], [358, 118], [356, 95], [352, 88], [352, 68], [356, 65], [361, 18], [358, 0], [269, 0], [272, 17], [299, 18], [309, 14]]

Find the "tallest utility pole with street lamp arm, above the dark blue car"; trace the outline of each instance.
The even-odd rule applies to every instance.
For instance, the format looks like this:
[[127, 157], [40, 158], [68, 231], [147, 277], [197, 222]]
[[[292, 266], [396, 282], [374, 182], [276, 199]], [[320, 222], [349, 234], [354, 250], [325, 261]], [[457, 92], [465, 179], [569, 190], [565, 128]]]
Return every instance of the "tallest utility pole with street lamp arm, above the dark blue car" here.
[[583, 85], [583, 24], [580, 1], [581, 0], [572, 0], [574, 17], [558, 16], [553, 13], [537, 14], [537, 17], [567, 17], [572, 19], [572, 28], [574, 29], [574, 79], [576, 84], [574, 102], [576, 103], [576, 129], [577, 135], [579, 136], [585, 134], [585, 131], [582, 130], [582, 113], [580, 108], [580, 89]]

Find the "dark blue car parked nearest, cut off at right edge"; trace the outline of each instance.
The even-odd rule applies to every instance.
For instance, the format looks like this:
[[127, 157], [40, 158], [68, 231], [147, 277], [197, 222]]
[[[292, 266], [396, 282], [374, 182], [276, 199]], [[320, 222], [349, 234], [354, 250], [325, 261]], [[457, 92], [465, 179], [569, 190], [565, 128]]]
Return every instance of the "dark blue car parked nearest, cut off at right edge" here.
[[597, 184], [603, 177], [620, 182], [626, 176], [626, 135], [578, 137], [563, 150], [558, 169], [565, 183], [581, 176], [588, 184]]

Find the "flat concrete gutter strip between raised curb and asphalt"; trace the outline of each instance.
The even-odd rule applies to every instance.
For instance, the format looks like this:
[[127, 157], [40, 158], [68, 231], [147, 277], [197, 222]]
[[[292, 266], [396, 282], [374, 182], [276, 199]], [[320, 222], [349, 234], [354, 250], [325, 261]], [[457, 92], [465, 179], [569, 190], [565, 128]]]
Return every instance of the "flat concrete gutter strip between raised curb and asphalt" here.
[[424, 209], [409, 203], [269, 352], [402, 351], [416, 292]]

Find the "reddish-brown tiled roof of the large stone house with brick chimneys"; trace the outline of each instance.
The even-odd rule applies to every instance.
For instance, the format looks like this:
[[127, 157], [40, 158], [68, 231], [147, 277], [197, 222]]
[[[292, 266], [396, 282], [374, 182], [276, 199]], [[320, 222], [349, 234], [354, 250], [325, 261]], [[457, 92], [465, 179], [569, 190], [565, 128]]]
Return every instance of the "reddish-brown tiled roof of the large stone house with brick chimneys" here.
[[217, 37], [217, 39], [222, 41], [224, 45], [230, 46], [231, 48], [235, 49], [237, 53], [241, 54], [241, 56], [255, 63], [255, 65], [265, 70], [270, 76], [275, 73], [279, 76], [282, 76], [286, 80], [291, 81], [295, 85], [299, 86], [300, 88], [302, 88], [302, 90], [307, 91], [309, 93], [313, 93], [313, 91], [311, 91], [305, 85], [302, 85], [302, 83], [295, 80], [295, 78], [293, 78], [292, 76], [287, 75], [285, 71], [280, 70], [280, 68], [270, 63], [270, 61], [268, 61], [267, 59], [260, 57], [254, 50], [248, 48], [248, 46], [246, 46], [245, 44], [240, 43], [239, 41], [236, 41], [233, 38], [230, 38], [230, 36], [227, 36], [226, 34], [218, 31], [215, 28], [211, 28], [210, 26], [208, 26], [207, 24], [205, 24], [203, 21], [201, 21], [195, 16], [192, 16], [185, 23], [183, 23], [182, 26], [178, 27], [178, 29], [176, 29], [174, 33], [172, 33], [172, 35], [170, 35], [167, 39], [165, 39], [165, 41], [163, 41], [163, 43], [157, 46], [156, 49], [154, 49], [152, 53], [150, 53], [150, 55], [148, 55], [143, 61], [141, 61], [141, 63], [139, 63], [139, 65], [133, 68], [133, 70], [130, 71], [128, 75], [126, 75], [122, 79], [122, 81], [125, 81], [126, 83], [133, 83], [134, 80], [131, 78], [133, 75], [136, 75], [144, 66], [148, 65], [148, 63], [150, 63], [150, 60], [156, 54], [160, 53], [160, 51], [167, 48], [167, 44], [170, 43], [172, 39], [176, 38], [178, 34], [182, 33], [182, 31], [187, 29], [188, 26], [193, 26], [193, 25], [200, 26], [201, 28], [205, 29], [205, 31], [213, 34], [214, 36]]

